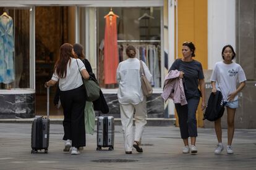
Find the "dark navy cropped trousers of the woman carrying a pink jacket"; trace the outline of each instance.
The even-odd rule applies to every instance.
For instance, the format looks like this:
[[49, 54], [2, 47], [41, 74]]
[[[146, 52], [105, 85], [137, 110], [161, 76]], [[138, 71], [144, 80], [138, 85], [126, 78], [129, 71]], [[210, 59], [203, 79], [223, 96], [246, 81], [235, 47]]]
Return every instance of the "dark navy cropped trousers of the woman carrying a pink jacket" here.
[[197, 118], [195, 117], [200, 98], [187, 99], [187, 105], [175, 104], [179, 117], [181, 138], [197, 137]]

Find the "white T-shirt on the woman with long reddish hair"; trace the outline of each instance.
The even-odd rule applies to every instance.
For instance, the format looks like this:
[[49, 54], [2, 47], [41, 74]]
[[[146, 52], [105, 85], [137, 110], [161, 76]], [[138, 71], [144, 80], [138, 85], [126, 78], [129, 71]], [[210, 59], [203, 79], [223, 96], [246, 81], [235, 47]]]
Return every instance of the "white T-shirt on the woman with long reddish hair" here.
[[[77, 62], [76, 62], [77, 60]], [[79, 66], [77, 65], [79, 64]], [[67, 63], [67, 75], [66, 78], [59, 78], [54, 71], [53, 79], [54, 81], [59, 81], [59, 89], [61, 91], [69, 91], [75, 89], [77, 87], [82, 86], [82, 75], [80, 74], [79, 70], [82, 71], [85, 68], [85, 65], [80, 59], [73, 59], [70, 60], [70, 65]]]

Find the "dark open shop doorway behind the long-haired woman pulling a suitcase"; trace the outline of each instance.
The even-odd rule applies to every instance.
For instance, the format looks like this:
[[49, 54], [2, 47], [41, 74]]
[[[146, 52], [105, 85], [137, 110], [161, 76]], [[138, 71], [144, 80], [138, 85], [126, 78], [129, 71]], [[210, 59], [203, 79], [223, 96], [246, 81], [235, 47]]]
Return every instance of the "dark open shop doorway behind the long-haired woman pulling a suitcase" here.
[[[46, 114], [45, 82], [53, 76], [54, 65], [59, 59], [59, 47], [65, 42], [75, 43], [75, 7], [35, 7], [35, 90], [36, 115]], [[51, 87], [49, 102], [53, 103], [56, 87]], [[62, 108], [53, 104], [50, 115], [62, 115]]]

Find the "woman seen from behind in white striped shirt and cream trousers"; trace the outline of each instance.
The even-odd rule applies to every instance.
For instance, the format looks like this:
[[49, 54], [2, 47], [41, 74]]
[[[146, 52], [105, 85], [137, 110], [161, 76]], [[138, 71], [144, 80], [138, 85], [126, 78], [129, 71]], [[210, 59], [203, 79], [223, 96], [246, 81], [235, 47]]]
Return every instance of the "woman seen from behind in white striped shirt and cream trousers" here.
[[[119, 63], [116, 70], [116, 79], [119, 84], [117, 98], [120, 103], [122, 130], [124, 133], [124, 148], [126, 154], [132, 153], [132, 147], [142, 153], [139, 147], [143, 129], [147, 124], [147, 97], [143, 95], [140, 81], [140, 60], [135, 58], [134, 46], [126, 49], [128, 59]], [[142, 62], [145, 76], [151, 81], [152, 75], [147, 65]], [[134, 114], [135, 109], [135, 114]], [[133, 118], [135, 119], [135, 136], [133, 135]]]

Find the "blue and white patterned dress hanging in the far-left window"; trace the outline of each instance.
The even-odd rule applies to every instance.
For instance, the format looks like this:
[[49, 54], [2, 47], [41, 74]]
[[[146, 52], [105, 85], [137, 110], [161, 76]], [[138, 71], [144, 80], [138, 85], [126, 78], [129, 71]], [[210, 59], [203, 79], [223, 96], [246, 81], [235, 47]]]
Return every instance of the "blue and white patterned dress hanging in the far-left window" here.
[[0, 83], [14, 81], [14, 29], [10, 16], [0, 16]]

